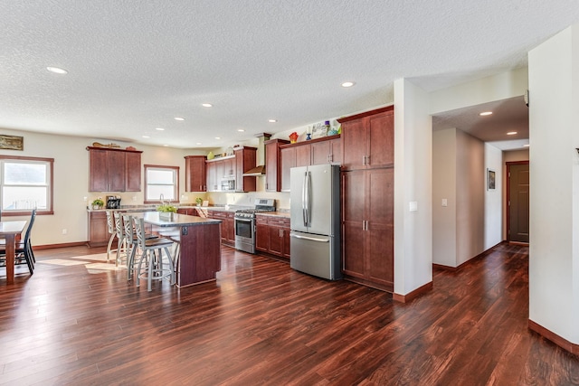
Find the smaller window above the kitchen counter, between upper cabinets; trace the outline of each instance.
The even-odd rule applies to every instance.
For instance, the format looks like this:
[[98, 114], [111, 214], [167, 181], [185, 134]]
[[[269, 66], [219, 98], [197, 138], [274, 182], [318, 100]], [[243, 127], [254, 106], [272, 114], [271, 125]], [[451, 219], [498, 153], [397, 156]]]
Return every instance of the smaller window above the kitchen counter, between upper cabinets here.
[[145, 165], [145, 202], [178, 201], [179, 167]]

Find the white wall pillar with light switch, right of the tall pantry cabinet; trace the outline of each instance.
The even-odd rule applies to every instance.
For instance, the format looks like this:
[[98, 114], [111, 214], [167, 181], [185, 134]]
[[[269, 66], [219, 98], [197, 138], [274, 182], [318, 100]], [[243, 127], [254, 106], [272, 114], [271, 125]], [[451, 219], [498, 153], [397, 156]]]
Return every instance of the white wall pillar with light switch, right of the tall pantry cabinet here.
[[[432, 282], [432, 118], [428, 94], [394, 81], [394, 293]], [[410, 212], [410, 202], [418, 210]]]

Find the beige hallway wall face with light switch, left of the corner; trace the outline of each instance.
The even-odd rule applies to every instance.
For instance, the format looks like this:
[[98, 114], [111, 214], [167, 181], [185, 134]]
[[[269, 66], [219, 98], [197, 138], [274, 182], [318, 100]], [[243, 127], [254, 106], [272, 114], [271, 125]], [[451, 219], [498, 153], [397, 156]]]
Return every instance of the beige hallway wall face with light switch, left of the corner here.
[[432, 132], [432, 262], [449, 267], [456, 267], [456, 131]]

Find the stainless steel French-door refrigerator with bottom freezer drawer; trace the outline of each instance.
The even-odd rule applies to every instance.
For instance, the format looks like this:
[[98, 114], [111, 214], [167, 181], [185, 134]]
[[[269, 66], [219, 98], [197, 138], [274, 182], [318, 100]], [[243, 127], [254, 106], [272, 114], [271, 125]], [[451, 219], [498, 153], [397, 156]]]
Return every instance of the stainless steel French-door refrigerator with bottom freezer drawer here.
[[291, 268], [338, 280], [340, 269], [340, 167], [312, 165], [290, 170]]

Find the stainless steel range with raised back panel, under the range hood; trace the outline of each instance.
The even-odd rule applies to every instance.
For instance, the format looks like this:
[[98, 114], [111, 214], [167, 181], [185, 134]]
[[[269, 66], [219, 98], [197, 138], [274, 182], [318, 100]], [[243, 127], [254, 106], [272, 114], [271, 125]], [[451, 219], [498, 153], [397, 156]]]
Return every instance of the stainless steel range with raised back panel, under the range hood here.
[[252, 209], [235, 211], [235, 249], [255, 253], [255, 213], [275, 212], [275, 200], [256, 198]]

